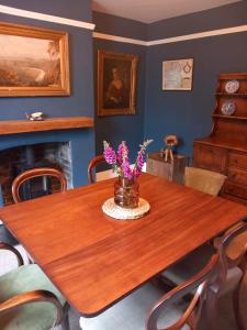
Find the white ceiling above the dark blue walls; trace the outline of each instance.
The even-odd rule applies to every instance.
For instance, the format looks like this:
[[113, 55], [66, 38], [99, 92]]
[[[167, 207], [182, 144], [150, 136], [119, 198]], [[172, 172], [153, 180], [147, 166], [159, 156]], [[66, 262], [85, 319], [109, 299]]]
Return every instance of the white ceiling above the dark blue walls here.
[[92, 9], [151, 23], [237, 1], [239, 0], [92, 0]]

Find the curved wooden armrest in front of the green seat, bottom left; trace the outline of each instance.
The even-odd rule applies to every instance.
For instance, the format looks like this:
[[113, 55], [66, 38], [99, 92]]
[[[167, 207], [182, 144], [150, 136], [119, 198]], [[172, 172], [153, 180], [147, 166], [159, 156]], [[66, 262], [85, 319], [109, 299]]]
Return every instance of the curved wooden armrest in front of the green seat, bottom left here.
[[41, 301], [49, 302], [56, 307], [57, 317], [54, 326], [58, 324], [64, 314], [63, 305], [57, 299], [57, 297], [48, 290], [33, 290], [14, 296], [0, 304], [0, 314], [18, 308], [22, 305]]

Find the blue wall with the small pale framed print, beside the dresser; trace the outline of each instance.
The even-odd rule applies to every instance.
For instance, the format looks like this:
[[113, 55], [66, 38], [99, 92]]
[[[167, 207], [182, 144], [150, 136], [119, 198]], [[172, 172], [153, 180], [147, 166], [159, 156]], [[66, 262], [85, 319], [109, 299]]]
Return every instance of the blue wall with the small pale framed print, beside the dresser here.
[[[246, 13], [247, 2], [240, 1], [233, 6], [150, 24], [148, 36], [157, 40], [247, 24]], [[246, 32], [149, 47], [145, 134], [155, 140], [150, 148], [160, 150], [165, 135], [177, 134], [181, 139], [178, 151], [192, 156], [193, 140], [206, 136], [211, 131], [217, 75], [247, 72], [246, 54]], [[162, 61], [189, 57], [194, 58], [192, 91], [161, 90]]]

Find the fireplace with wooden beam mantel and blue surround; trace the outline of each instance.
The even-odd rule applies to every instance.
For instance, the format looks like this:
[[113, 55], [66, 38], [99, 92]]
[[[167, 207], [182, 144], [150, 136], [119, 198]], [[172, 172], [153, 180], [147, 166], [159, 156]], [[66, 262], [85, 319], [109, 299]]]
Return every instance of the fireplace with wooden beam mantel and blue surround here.
[[[88, 163], [94, 156], [96, 147], [93, 125], [91, 117], [48, 118], [43, 122], [0, 121], [0, 206], [11, 202], [10, 194], [5, 195], [5, 189], [12, 185], [11, 180], [16, 170], [13, 173], [12, 161], [9, 162], [9, 166], [3, 165], [3, 160], [10, 157], [11, 153], [16, 163], [24, 160], [23, 162], [27, 163], [26, 168], [30, 168], [29, 163], [59, 168], [65, 173], [68, 188], [87, 184]], [[20, 148], [19, 152], [15, 147]], [[64, 153], [67, 156], [63, 156]], [[55, 160], [59, 157], [63, 161], [54, 165]], [[45, 160], [45, 163], [38, 164], [40, 160]], [[1, 190], [4, 190], [4, 204]]]

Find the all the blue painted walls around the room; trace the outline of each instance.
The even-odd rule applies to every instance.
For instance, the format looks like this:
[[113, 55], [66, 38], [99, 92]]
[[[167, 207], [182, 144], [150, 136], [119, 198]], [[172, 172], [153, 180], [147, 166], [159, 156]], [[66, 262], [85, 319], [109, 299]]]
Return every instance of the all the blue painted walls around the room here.
[[[90, 0], [72, 0], [69, 6], [66, 0], [53, 0], [49, 6], [40, 0], [2, 0], [1, 4], [93, 21], [97, 32], [143, 41], [247, 23], [246, 1], [149, 25], [102, 13], [92, 15]], [[24, 112], [30, 110], [43, 110], [49, 117], [94, 116], [93, 99], [97, 95], [93, 92], [93, 67], [96, 76], [97, 51], [102, 48], [139, 56], [136, 116], [96, 117], [96, 141], [92, 130], [0, 136], [0, 150], [15, 144], [71, 141], [74, 155], [77, 155], [74, 164], [75, 186], [87, 182], [88, 161], [94, 154], [94, 147], [96, 153], [102, 153], [103, 140], [113, 145], [126, 140], [133, 156], [144, 138], [155, 139], [150, 150], [159, 150], [164, 135], [175, 133], [182, 140], [179, 152], [191, 155], [193, 139], [207, 135], [211, 130], [216, 76], [220, 73], [247, 70], [247, 33], [145, 47], [98, 38], [92, 42], [91, 32], [79, 28], [1, 13], [0, 20], [68, 31], [71, 70], [70, 97], [0, 98], [0, 120], [22, 119]], [[193, 90], [162, 91], [162, 61], [184, 57], [194, 58]]]

